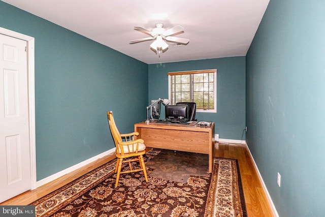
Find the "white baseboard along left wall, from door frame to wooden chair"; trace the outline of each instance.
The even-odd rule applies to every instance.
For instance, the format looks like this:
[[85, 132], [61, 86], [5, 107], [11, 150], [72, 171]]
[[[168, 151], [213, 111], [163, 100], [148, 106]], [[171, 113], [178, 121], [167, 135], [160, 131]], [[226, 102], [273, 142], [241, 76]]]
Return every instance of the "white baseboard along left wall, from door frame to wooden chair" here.
[[42, 186], [42, 185], [44, 185], [44, 184], [46, 184], [46, 183], [48, 183], [50, 181], [53, 181], [53, 180], [55, 180], [55, 179], [57, 179], [57, 178], [59, 178], [59, 177], [61, 177], [63, 175], [66, 175], [66, 174], [68, 174], [70, 172], [73, 172], [76, 169], [79, 169], [79, 168], [81, 168], [81, 167], [83, 167], [83, 166], [85, 166], [87, 164], [90, 164], [90, 163], [92, 163], [92, 162], [94, 162], [94, 161], [96, 161], [98, 159], [101, 159], [101, 158], [103, 158], [103, 157], [105, 157], [105, 156], [107, 156], [109, 154], [112, 154], [114, 152], [115, 152], [115, 148], [112, 148], [112, 149], [107, 150], [107, 151], [105, 151], [103, 153], [100, 153], [100, 154], [98, 154], [98, 155], [96, 155], [96, 156], [94, 156], [92, 158], [89, 158], [88, 160], [80, 162], [79, 164], [76, 164], [76, 165], [71, 166], [71, 167], [69, 167], [69, 168], [67, 168], [65, 170], [62, 170], [62, 171], [57, 172], [57, 173], [55, 173], [53, 175], [50, 175], [50, 176], [48, 176], [46, 178], [43, 178], [43, 179], [36, 182], [36, 188], [39, 188], [40, 186]]

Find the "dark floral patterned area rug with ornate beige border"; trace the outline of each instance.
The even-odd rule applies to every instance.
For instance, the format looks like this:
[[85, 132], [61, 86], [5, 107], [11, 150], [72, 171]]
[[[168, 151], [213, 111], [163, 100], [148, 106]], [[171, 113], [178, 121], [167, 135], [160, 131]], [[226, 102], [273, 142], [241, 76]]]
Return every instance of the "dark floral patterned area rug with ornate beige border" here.
[[[173, 155], [179, 158], [186, 154], [190, 161], [180, 164], [173, 160]], [[196, 167], [202, 170], [200, 161], [205, 154], [200, 155], [150, 150], [145, 156], [148, 182], [142, 172], [121, 174], [117, 188], [114, 160], [30, 205], [36, 206], [36, 216], [247, 217], [237, 160], [215, 158], [213, 172], [207, 174], [204, 170], [198, 175]], [[161, 159], [169, 160], [164, 166]], [[152, 166], [152, 162], [159, 164]], [[186, 175], [182, 171], [187, 171]], [[164, 173], [173, 174], [174, 180], [160, 176]]]

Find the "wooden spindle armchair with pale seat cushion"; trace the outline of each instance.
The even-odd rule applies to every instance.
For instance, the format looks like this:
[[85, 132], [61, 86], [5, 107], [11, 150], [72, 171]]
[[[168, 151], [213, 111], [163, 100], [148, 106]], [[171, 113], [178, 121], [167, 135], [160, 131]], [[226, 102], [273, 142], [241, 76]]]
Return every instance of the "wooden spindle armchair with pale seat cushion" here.
[[[143, 171], [146, 182], [148, 182], [147, 171], [143, 160], [143, 154], [146, 153], [146, 146], [142, 139], [135, 140], [135, 136], [139, 136], [138, 132], [133, 132], [129, 134], [120, 134], [115, 125], [113, 112], [107, 112], [108, 122], [110, 125], [111, 133], [114, 138], [116, 151], [115, 155], [117, 157], [117, 163], [115, 172], [117, 172], [115, 187], [118, 185], [118, 180], [120, 174], [132, 173]], [[134, 158], [133, 158], [134, 157]], [[131, 162], [139, 161], [141, 169], [133, 169]], [[122, 163], [128, 163], [129, 170], [122, 171]]]

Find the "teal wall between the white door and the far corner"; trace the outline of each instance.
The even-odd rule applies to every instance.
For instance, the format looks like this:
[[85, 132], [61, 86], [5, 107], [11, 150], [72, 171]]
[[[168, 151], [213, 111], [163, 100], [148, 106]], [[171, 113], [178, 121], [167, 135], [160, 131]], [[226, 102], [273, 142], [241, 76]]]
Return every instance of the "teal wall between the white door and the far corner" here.
[[107, 111], [145, 119], [147, 64], [1, 1], [0, 26], [35, 38], [37, 180], [115, 147]]

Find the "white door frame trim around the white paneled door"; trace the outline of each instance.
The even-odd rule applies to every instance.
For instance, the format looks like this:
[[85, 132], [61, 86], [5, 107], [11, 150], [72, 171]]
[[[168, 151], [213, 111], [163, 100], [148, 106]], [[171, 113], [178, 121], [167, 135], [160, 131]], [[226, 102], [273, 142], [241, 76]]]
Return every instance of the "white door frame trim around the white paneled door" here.
[[28, 82], [28, 118], [29, 118], [29, 155], [31, 171], [31, 189], [36, 189], [36, 130], [35, 130], [35, 39], [12, 30], [0, 27], [0, 34], [27, 42], [27, 82]]

